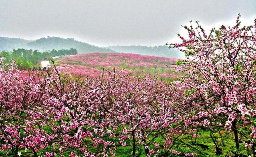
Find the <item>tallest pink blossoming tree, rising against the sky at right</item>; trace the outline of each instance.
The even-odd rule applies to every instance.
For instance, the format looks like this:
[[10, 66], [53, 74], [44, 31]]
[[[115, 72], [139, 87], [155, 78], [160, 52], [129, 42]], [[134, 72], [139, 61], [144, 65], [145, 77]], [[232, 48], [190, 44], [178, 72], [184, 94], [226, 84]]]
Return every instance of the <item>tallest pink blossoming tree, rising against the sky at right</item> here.
[[[232, 133], [234, 149], [228, 154], [256, 155], [256, 20], [253, 26], [236, 25], [213, 28], [209, 35], [196, 22], [196, 27], [184, 26], [188, 38], [180, 36], [181, 44], [170, 44], [186, 54], [187, 60], [177, 71], [186, 76], [175, 82], [176, 103], [185, 115], [185, 126], [203, 126], [210, 129], [216, 154], [221, 154], [225, 143], [217, 141]], [[226, 130], [226, 133], [222, 131]], [[242, 145], [242, 146], [241, 146]], [[222, 147], [223, 149], [221, 149]], [[247, 149], [247, 153], [241, 150]]]

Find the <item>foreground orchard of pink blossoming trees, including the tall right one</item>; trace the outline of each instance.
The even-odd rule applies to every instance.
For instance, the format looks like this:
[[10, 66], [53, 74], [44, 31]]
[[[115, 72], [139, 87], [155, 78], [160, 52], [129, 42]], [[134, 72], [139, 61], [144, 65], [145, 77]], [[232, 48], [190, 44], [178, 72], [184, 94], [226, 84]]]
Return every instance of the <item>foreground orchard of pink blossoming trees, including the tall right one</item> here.
[[28, 77], [0, 58], [0, 156], [255, 157], [256, 20], [184, 28], [170, 47], [186, 54], [174, 67], [186, 74], [168, 84], [55, 68]]

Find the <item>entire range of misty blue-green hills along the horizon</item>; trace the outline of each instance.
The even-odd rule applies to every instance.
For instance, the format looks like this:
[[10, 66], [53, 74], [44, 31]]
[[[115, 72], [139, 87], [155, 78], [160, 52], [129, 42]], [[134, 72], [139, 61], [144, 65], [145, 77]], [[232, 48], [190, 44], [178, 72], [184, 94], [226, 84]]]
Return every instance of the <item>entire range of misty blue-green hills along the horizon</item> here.
[[74, 48], [78, 54], [88, 52], [122, 52], [142, 54], [149, 56], [160, 56], [168, 58], [184, 58], [184, 55], [176, 49], [169, 49], [168, 46], [109, 46], [98, 47], [85, 42], [74, 40], [74, 38], [47, 37], [37, 40], [24, 40], [20, 38], [0, 37], [0, 52], [12, 51], [13, 49], [24, 48], [38, 50], [39, 52], [51, 50], [66, 50]]

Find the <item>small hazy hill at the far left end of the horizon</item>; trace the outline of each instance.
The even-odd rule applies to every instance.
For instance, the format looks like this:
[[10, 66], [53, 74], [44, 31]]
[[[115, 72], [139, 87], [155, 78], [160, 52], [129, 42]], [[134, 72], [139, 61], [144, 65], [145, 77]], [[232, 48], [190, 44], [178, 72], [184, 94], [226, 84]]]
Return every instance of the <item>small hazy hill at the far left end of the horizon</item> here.
[[30, 40], [20, 39], [20, 38], [7, 38], [0, 37], [0, 52], [2, 51], [12, 51], [17, 48], [27, 49], [27, 44], [31, 42]]

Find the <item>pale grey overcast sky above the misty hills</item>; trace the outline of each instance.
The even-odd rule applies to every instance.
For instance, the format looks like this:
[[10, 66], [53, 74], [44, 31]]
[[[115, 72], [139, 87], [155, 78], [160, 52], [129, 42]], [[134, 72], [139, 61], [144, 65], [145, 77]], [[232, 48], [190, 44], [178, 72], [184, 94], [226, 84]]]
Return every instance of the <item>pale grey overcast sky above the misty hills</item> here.
[[156, 46], [178, 42], [190, 20], [206, 32], [234, 26], [238, 13], [242, 24], [253, 24], [255, 8], [256, 0], [0, 0], [0, 36]]

